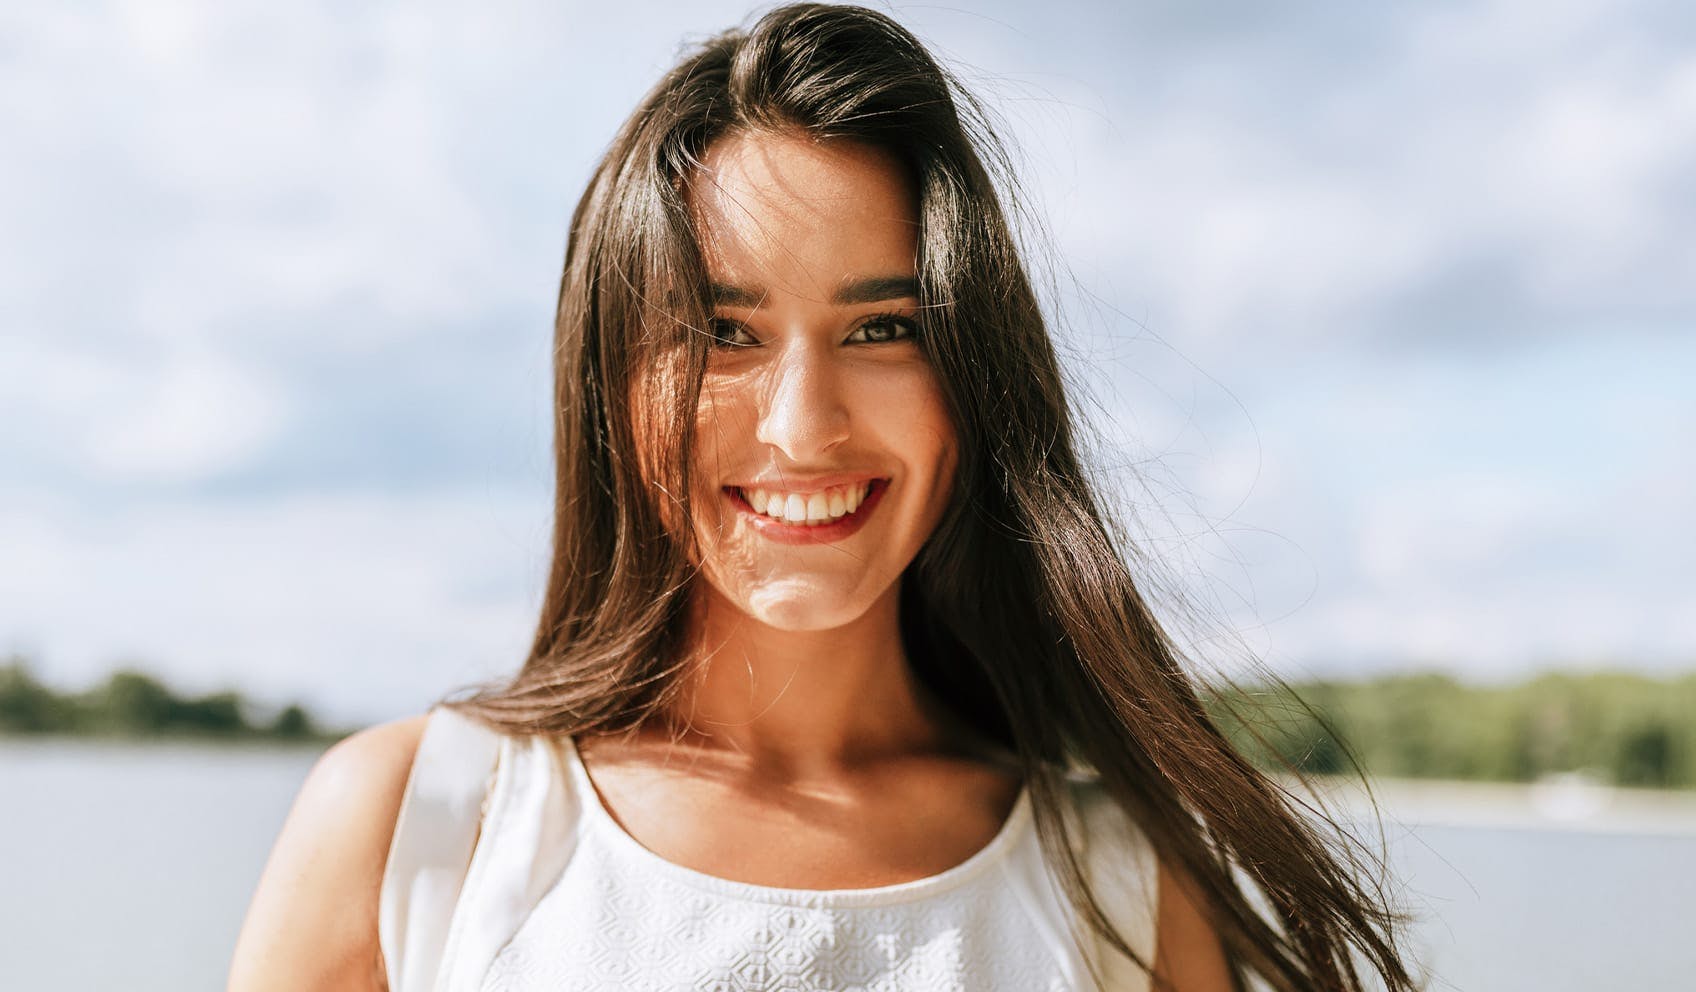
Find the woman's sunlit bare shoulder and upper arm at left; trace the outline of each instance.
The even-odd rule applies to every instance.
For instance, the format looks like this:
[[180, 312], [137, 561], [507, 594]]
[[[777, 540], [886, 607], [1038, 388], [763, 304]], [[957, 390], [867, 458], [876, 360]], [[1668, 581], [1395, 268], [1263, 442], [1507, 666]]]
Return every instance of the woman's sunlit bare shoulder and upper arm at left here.
[[377, 906], [424, 716], [324, 751], [295, 795], [231, 963], [231, 992], [385, 987]]

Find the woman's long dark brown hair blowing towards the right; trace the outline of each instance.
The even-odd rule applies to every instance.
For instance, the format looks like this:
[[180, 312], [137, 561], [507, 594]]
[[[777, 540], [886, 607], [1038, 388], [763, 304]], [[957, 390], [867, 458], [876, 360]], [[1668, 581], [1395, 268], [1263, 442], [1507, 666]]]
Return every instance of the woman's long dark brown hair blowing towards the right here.
[[960, 468], [950, 509], [902, 577], [902, 636], [918, 677], [1018, 755], [1043, 850], [1080, 919], [1150, 968], [1101, 912], [1062, 816], [1067, 768], [1087, 765], [1160, 858], [1196, 882], [1238, 984], [1357, 990], [1364, 956], [1392, 992], [1413, 989], [1401, 917], [1228, 744], [1138, 590], [1135, 548], [1077, 454], [987, 117], [918, 39], [872, 10], [778, 7], [712, 37], [600, 159], [560, 281], [541, 622], [510, 682], [453, 705], [514, 734], [577, 734], [629, 729], [673, 699], [694, 580], [690, 527], [675, 519], [689, 521], [709, 348], [699, 329], [711, 315], [683, 183], [712, 141], [777, 129], [877, 146], [914, 178], [921, 341]]

